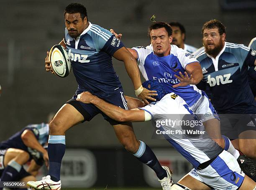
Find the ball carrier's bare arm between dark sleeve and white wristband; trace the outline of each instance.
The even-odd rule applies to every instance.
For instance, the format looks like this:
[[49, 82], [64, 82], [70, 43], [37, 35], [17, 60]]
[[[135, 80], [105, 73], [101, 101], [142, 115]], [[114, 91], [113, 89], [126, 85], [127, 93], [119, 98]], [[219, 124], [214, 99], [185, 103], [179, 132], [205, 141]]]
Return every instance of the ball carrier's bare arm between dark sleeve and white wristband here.
[[127, 48], [123, 47], [116, 51], [113, 57], [124, 62], [125, 69], [133, 82], [134, 89], [137, 90], [141, 86], [141, 75], [133, 55]]

